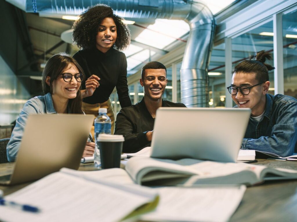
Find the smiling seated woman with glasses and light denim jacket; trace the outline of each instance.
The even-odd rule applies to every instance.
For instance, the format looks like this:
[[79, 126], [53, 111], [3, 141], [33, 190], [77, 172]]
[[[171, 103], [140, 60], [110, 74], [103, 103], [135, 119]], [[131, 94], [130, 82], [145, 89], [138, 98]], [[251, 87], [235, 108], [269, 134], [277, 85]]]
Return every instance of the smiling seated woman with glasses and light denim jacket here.
[[[10, 162], [15, 161], [17, 157], [28, 115], [83, 114], [80, 86], [84, 78], [82, 68], [69, 55], [56, 54], [48, 60], [42, 73], [42, 90], [45, 95], [29, 99], [20, 112], [6, 148], [7, 159]], [[92, 77], [86, 81], [90, 93], [97, 87], [92, 82]], [[87, 142], [83, 157], [93, 155], [94, 147], [94, 142]]]

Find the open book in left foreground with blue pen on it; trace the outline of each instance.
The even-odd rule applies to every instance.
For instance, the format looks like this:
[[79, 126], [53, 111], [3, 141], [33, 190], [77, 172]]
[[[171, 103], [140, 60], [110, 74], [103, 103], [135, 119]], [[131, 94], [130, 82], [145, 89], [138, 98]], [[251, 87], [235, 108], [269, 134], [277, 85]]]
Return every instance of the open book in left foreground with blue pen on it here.
[[38, 207], [30, 213], [0, 206], [1, 221], [122, 221], [153, 210], [154, 189], [134, 184], [123, 169], [76, 171], [62, 168], [19, 191], [8, 201]]

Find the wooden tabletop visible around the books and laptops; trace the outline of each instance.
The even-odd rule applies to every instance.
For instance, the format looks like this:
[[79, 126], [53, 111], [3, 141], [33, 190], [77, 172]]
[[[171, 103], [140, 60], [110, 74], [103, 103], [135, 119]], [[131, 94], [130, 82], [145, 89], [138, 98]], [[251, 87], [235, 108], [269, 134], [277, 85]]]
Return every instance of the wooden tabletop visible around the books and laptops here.
[[[297, 170], [297, 161], [258, 159], [258, 162], [253, 164]], [[0, 176], [11, 173], [12, 168], [13, 163], [0, 164]], [[97, 170], [97, 168], [90, 163], [81, 164], [79, 170]], [[30, 183], [0, 186], [0, 189], [7, 195], [28, 184]], [[248, 187], [230, 221], [297, 221], [297, 180], [267, 181], [261, 185]]]

